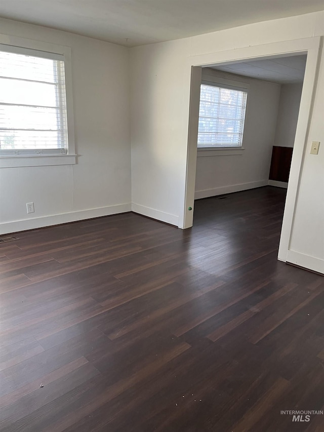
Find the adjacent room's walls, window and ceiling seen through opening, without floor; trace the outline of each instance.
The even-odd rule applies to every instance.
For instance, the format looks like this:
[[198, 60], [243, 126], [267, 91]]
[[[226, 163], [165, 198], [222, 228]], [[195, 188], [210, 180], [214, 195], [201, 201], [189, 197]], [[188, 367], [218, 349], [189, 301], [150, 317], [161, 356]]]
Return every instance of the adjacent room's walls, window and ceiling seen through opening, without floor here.
[[203, 68], [195, 199], [288, 187], [305, 65], [292, 55]]

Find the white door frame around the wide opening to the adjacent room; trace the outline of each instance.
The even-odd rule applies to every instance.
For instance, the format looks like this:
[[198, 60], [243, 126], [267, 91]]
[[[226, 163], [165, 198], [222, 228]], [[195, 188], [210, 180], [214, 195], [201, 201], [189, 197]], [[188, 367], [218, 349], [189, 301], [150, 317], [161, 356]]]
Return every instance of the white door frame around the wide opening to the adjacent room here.
[[[287, 189], [284, 218], [282, 221], [278, 259], [289, 261], [291, 234], [294, 224], [301, 172], [304, 163], [305, 149], [307, 145], [308, 129], [311, 117], [311, 108], [314, 97], [314, 89], [317, 78], [319, 49], [321, 37], [307, 37], [292, 41], [282, 41], [265, 45], [240, 48], [236, 50], [220, 51], [187, 59], [187, 67], [191, 70], [190, 99], [189, 99], [189, 123], [185, 200], [183, 218], [179, 224], [182, 228], [189, 228], [193, 222], [194, 189], [197, 158], [197, 133], [199, 98], [201, 83], [201, 67], [215, 66], [219, 64], [237, 63], [247, 60], [270, 59], [271, 57], [287, 57], [298, 54], [307, 54], [304, 75], [303, 90], [300, 101], [296, 136], [294, 142], [292, 164]], [[181, 217], [180, 217], [181, 219]]]

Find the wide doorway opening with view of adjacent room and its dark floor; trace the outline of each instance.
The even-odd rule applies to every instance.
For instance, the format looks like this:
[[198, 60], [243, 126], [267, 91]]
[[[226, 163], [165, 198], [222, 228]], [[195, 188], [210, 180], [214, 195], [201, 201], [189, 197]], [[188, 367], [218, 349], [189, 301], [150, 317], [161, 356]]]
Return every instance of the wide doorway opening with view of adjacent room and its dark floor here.
[[193, 225], [227, 239], [221, 260], [278, 247], [306, 59], [201, 69]]

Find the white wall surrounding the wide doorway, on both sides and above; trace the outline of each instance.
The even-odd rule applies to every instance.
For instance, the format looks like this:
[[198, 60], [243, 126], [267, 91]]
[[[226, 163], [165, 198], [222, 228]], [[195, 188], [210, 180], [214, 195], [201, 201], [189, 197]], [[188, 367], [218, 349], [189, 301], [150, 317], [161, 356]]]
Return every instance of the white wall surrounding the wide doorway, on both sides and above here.
[[[152, 217], [159, 216], [161, 220], [178, 220], [183, 226], [190, 65], [199, 64], [193, 61], [194, 57], [253, 46], [260, 46], [254, 52], [259, 51], [262, 55], [262, 44], [323, 35], [323, 15], [323, 12], [318, 12], [266, 21], [132, 49], [132, 191], [138, 209]], [[291, 246], [299, 257], [312, 253], [318, 262], [323, 263], [322, 65], [318, 80]], [[322, 141], [317, 156], [309, 154], [311, 140]], [[314, 215], [317, 224], [313, 224]], [[313, 240], [311, 245], [309, 239]], [[297, 263], [302, 265], [301, 261]], [[315, 267], [313, 264], [306, 266]]]

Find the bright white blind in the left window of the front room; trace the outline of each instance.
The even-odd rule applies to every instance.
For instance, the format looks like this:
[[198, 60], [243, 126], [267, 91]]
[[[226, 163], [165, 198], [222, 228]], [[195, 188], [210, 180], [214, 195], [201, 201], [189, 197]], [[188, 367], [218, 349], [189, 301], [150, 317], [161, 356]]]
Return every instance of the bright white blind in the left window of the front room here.
[[0, 154], [65, 154], [64, 57], [0, 46]]

